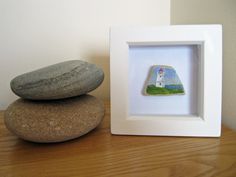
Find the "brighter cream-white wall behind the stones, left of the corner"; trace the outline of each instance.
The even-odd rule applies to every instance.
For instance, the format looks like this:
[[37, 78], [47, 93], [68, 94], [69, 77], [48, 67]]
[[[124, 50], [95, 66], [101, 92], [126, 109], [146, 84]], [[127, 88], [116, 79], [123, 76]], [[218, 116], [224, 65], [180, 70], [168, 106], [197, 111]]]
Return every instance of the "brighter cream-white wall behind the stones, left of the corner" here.
[[13, 77], [74, 59], [103, 68], [93, 94], [109, 99], [109, 27], [169, 24], [170, 0], [0, 0], [0, 109]]

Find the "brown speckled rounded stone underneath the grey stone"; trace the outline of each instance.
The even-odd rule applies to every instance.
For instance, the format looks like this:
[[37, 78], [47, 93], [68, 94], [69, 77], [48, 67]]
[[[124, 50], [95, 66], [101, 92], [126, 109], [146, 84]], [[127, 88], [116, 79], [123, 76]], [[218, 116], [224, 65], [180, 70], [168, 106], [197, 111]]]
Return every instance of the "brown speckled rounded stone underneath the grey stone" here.
[[22, 139], [50, 143], [80, 137], [102, 121], [104, 105], [83, 95], [63, 100], [18, 99], [5, 111], [6, 127]]

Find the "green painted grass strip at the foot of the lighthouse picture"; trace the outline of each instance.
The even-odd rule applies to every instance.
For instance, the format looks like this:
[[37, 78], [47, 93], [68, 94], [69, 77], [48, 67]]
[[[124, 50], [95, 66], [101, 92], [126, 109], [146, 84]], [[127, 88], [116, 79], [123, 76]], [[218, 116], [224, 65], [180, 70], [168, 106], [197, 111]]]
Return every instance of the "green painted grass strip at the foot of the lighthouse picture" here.
[[184, 94], [183, 89], [167, 89], [156, 87], [155, 85], [148, 85], [146, 92], [149, 95], [172, 95], [172, 94]]

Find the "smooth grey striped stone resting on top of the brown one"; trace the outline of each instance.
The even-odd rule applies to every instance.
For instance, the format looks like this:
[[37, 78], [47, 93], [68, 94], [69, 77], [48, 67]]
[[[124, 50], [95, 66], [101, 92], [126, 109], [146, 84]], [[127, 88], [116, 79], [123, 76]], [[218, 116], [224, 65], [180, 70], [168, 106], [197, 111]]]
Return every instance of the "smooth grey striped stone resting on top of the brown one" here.
[[52, 100], [88, 93], [103, 79], [103, 70], [95, 64], [71, 60], [17, 76], [10, 85], [19, 97]]

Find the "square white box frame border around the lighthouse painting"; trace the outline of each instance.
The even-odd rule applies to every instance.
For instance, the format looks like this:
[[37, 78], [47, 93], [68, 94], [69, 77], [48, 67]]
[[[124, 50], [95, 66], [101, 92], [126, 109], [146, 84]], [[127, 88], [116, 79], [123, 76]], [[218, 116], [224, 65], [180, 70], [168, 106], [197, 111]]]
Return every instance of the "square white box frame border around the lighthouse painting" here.
[[[200, 46], [198, 115], [130, 115], [130, 46]], [[222, 26], [112, 27], [110, 31], [111, 133], [219, 137], [221, 134]], [[122, 72], [121, 72], [122, 71]]]

